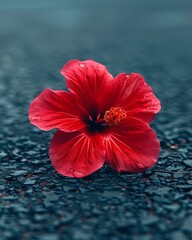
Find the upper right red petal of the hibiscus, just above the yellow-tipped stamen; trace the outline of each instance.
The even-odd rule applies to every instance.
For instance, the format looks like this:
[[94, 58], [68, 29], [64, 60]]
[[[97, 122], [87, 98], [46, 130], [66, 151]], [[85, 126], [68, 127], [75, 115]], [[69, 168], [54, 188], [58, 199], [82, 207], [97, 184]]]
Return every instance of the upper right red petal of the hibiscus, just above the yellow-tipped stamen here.
[[[115, 96], [115, 98], [114, 98]], [[147, 123], [151, 122], [161, 109], [160, 101], [144, 78], [137, 73], [119, 74], [113, 79], [110, 104], [127, 110], [127, 114]]]

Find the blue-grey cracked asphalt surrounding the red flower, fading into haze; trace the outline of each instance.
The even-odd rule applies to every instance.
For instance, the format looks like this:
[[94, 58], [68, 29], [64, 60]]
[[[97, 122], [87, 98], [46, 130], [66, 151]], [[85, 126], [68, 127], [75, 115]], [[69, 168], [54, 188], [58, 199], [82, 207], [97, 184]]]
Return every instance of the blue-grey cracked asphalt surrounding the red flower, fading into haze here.
[[[192, 239], [192, 2], [53, 2], [0, 0], [0, 239]], [[27, 112], [44, 88], [65, 88], [59, 72], [74, 58], [152, 85], [162, 102], [154, 168], [55, 172], [54, 131], [30, 125]]]

